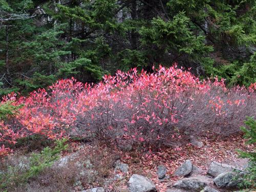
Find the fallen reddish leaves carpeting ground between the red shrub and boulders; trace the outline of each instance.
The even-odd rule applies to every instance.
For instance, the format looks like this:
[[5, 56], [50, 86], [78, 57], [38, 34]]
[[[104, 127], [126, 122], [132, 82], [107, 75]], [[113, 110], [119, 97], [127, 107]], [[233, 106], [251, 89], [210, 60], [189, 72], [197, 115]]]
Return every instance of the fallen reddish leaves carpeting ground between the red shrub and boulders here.
[[[90, 157], [91, 161], [97, 162], [98, 167], [110, 168], [108, 169], [108, 178], [113, 178], [117, 172], [114, 171], [112, 164], [119, 159], [122, 163], [129, 165], [129, 172], [119, 174], [124, 178], [122, 181], [111, 182], [108, 188], [118, 188], [120, 191], [126, 191], [127, 181], [133, 174], [139, 174], [150, 178], [156, 185], [159, 192], [165, 192], [169, 186], [172, 186], [175, 181], [181, 179], [174, 177], [173, 174], [177, 168], [187, 159], [201, 168], [206, 175], [207, 168], [212, 161], [226, 163], [229, 165], [243, 165], [246, 160], [238, 156], [237, 150], [247, 152], [253, 151], [253, 145], [245, 145], [245, 139], [242, 136], [229, 137], [226, 140], [216, 139], [214, 141], [204, 138], [202, 147], [195, 147], [187, 144], [183, 147], [165, 147], [159, 149], [159, 152], [145, 152], [145, 150], [133, 152], [121, 152], [118, 150], [106, 150], [108, 147], [93, 146], [91, 143], [86, 143], [81, 146], [80, 142], [71, 142], [71, 151], [63, 154], [63, 156], [79, 152], [79, 156]], [[108, 165], [109, 163], [109, 165]], [[160, 181], [157, 178], [157, 166], [164, 165], [167, 168], [168, 180]], [[101, 170], [102, 171], [102, 170]], [[95, 181], [93, 184], [84, 187], [100, 186], [100, 183]]]

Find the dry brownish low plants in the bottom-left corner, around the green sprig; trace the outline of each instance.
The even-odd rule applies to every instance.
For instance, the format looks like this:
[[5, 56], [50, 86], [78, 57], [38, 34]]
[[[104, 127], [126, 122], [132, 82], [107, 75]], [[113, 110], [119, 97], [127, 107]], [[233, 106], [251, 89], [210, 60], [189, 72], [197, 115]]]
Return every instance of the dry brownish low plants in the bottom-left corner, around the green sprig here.
[[[72, 150], [72, 147], [70, 150]], [[104, 186], [106, 185], [106, 180], [113, 178], [114, 163], [120, 158], [117, 152], [112, 151], [109, 147], [98, 144], [91, 146], [88, 144], [85, 148], [80, 148], [76, 156], [70, 158], [62, 166], [56, 163], [51, 167], [45, 168], [38, 176], [32, 177], [27, 181], [20, 177], [22, 173], [29, 169], [28, 157], [30, 154], [26, 152], [20, 151], [20, 153], [15, 153], [0, 163], [1, 172], [5, 174], [4, 180], [1, 179], [1, 181], [9, 183], [3, 187], [3, 190], [11, 192], [65, 192]], [[74, 152], [66, 151], [63, 155], [69, 156], [72, 154]], [[11, 175], [8, 173], [8, 166], [13, 167]], [[12, 177], [11, 183], [7, 182], [9, 176]], [[118, 188], [118, 184], [116, 184], [115, 188]]]

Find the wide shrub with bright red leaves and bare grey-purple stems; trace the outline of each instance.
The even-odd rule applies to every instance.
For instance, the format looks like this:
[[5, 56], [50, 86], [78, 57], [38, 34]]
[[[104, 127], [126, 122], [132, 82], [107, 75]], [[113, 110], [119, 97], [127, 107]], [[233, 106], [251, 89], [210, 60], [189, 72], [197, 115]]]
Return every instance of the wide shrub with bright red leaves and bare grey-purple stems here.
[[103, 79], [95, 85], [59, 80], [28, 97], [4, 97], [2, 102], [25, 106], [12, 121], [1, 122], [0, 142], [35, 133], [49, 138], [75, 133], [157, 147], [180, 136], [228, 136], [239, 131], [245, 116], [255, 115], [255, 83], [227, 89], [223, 79], [200, 81], [176, 66], [160, 66], [152, 74], [117, 71]]

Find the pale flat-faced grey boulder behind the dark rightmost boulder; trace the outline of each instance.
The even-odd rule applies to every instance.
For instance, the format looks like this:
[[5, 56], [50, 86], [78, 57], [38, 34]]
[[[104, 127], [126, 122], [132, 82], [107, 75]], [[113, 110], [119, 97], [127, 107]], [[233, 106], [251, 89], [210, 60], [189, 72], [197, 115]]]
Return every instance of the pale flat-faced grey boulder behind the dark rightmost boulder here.
[[207, 174], [212, 177], [217, 177], [218, 175], [220, 175], [222, 173], [230, 172], [232, 170], [231, 167], [232, 167], [231, 165], [219, 163], [217, 161], [212, 161], [207, 170]]

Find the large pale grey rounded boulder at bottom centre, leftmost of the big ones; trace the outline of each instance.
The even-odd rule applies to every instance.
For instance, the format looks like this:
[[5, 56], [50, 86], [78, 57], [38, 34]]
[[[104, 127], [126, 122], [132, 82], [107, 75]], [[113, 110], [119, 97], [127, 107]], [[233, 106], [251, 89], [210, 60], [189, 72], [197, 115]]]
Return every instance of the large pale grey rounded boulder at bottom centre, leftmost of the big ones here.
[[156, 192], [155, 184], [148, 178], [134, 174], [128, 181], [130, 192]]

